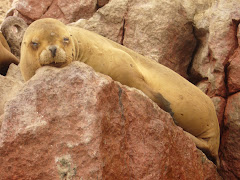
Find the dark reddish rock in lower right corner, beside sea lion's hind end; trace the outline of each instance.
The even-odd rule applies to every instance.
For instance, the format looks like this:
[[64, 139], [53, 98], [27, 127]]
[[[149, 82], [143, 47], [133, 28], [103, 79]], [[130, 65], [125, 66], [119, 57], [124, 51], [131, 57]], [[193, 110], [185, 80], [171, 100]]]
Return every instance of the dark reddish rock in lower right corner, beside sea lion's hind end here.
[[221, 163], [224, 179], [240, 179], [240, 93], [228, 98], [222, 135]]

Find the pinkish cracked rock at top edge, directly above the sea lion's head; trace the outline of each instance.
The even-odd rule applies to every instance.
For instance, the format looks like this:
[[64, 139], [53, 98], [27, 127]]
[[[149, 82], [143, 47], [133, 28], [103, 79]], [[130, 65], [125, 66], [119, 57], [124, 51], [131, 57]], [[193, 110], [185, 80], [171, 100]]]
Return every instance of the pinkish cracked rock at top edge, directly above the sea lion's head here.
[[47, 17], [70, 23], [80, 18], [90, 18], [96, 6], [97, 0], [18, 0], [14, 3], [13, 15], [23, 18], [28, 24]]

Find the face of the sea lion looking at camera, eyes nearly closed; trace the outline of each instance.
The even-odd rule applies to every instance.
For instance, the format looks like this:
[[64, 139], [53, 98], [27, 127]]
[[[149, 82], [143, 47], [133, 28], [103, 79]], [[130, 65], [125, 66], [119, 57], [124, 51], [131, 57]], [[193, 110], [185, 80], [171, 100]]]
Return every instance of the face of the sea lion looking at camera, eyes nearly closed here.
[[[66, 26], [60, 22], [36, 23], [30, 27], [23, 46], [32, 63], [39, 66], [64, 67], [73, 60], [74, 45]], [[28, 60], [27, 60], [28, 61]]]

